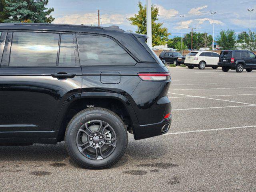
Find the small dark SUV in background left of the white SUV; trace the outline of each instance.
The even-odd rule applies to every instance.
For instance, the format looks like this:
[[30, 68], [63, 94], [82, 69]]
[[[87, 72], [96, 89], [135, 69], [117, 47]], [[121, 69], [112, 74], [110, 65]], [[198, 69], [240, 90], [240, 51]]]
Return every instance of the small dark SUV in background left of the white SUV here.
[[182, 56], [179, 52], [170, 52], [170, 51], [163, 51], [160, 53], [159, 58], [162, 62], [165, 63], [173, 63], [175, 65], [184, 64], [185, 57]]

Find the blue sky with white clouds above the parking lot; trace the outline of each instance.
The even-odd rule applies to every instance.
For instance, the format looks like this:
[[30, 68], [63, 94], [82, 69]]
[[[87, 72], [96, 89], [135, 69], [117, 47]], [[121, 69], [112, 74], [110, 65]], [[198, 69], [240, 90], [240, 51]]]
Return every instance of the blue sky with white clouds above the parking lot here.
[[[214, 14], [214, 36], [221, 30], [232, 29], [236, 34], [248, 31], [250, 12], [256, 9], [256, 0], [151, 0], [159, 8], [159, 20], [171, 33], [170, 38], [194, 32], [207, 32], [212, 35]], [[146, 0], [141, 0], [146, 4]], [[123, 30], [136, 31], [127, 18], [138, 13], [138, 0], [49, 0], [53, 7], [54, 23], [98, 25], [118, 25]], [[179, 15], [184, 15], [183, 22]], [[251, 12], [251, 30], [256, 31], [256, 10]]]

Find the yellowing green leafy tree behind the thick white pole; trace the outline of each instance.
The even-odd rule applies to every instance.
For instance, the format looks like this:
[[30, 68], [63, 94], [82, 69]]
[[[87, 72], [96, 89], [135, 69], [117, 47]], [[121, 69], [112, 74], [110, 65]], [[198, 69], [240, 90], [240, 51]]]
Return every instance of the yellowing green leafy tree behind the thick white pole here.
[[[138, 3], [138, 14], [135, 14], [133, 17], [128, 18], [132, 25], [136, 25], [138, 29], [136, 33], [147, 34], [146, 28], [146, 5], [142, 5], [142, 2]], [[162, 27], [163, 23], [156, 22], [158, 20], [158, 8], [154, 5], [151, 6], [151, 16], [152, 16], [152, 46], [164, 45], [168, 41], [167, 28]]]

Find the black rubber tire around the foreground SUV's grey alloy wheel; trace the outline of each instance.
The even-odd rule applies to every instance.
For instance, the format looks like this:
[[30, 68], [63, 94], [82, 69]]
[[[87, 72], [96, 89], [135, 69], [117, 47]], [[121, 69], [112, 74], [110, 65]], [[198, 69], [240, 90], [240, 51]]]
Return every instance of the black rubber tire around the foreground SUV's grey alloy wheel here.
[[[76, 135], [82, 124], [85, 124], [91, 120], [102, 120], [107, 122], [112, 126], [112, 128], [116, 132], [116, 148], [108, 156], [102, 160], [91, 160], [86, 158], [83, 154], [80, 153], [78, 147], [76, 145]], [[125, 128], [122, 126], [122, 122], [120, 119], [116, 118], [115, 116], [107, 113], [107, 112], [100, 112], [100, 111], [91, 111], [85, 112], [78, 115], [74, 118], [68, 126], [68, 130], [66, 132], [66, 146], [70, 152], [70, 155], [83, 167], [90, 167], [90, 168], [104, 168], [114, 164], [116, 160], [122, 156], [124, 150], [126, 149], [127, 145], [127, 132]]]

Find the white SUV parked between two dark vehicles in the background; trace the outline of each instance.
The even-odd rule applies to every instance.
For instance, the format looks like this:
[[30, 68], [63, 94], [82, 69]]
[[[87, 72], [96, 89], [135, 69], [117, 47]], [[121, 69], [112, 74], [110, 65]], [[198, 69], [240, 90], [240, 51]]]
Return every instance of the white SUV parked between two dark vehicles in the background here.
[[218, 68], [219, 56], [218, 53], [211, 51], [192, 51], [186, 55], [185, 65], [190, 69], [194, 67], [216, 69]]

